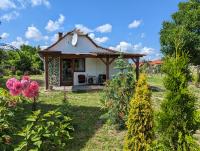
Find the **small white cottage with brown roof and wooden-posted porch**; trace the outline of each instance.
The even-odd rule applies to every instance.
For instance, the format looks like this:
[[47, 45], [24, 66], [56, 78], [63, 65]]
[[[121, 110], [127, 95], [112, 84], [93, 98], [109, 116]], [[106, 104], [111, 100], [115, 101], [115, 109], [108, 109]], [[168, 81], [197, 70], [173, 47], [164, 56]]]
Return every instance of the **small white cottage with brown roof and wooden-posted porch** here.
[[[58, 33], [58, 40], [39, 52], [44, 60], [45, 85], [73, 86], [103, 84], [117, 72], [114, 60], [120, 52], [97, 45], [88, 34], [73, 30], [65, 35]], [[139, 58], [143, 54], [123, 53], [125, 59], [136, 64], [139, 74]]]

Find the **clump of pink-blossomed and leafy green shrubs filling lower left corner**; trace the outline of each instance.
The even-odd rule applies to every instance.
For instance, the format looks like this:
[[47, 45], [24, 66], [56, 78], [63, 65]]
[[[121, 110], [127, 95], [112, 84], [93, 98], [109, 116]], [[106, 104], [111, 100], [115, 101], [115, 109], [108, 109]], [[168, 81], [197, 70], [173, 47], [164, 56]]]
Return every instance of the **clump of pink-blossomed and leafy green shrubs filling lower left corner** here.
[[72, 139], [71, 118], [58, 110], [37, 110], [26, 116], [30, 111], [23, 112], [25, 106], [18, 102], [30, 98], [35, 104], [39, 94], [38, 83], [28, 76], [8, 79], [6, 86], [9, 91], [0, 88], [0, 151], [65, 150]]

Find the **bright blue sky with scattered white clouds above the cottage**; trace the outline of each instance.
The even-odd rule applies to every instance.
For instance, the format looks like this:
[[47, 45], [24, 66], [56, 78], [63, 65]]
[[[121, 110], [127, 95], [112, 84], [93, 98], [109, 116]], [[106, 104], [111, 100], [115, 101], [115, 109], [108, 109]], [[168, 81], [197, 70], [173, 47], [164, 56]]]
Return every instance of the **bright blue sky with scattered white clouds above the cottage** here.
[[[99, 45], [161, 57], [159, 31], [181, 0], [0, 0], [1, 42], [52, 44], [75, 27]], [[183, 1], [183, 0], [182, 0]]]

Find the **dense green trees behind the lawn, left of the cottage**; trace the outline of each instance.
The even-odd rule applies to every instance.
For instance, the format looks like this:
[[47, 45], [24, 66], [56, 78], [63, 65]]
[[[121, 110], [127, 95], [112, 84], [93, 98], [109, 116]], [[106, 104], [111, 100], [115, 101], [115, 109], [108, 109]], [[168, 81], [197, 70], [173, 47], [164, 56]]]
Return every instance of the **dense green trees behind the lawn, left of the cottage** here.
[[[43, 62], [39, 58], [40, 48], [22, 45], [19, 50], [0, 51], [3, 59], [0, 61], [0, 67], [4, 68], [4, 75], [15, 73], [22, 75], [25, 72], [29, 74], [40, 74], [43, 70]], [[11, 71], [11, 73], [9, 72]]]

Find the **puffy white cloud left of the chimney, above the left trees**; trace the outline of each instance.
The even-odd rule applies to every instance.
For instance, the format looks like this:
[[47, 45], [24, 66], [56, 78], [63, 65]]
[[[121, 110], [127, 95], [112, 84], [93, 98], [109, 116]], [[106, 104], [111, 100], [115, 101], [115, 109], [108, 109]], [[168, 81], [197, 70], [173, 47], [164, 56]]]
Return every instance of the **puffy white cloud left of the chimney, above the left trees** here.
[[39, 29], [37, 29], [34, 25], [27, 28], [27, 31], [25, 32], [25, 37], [27, 39], [33, 39], [36, 41], [49, 39], [48, 36], [43, 36]]

